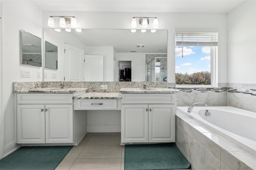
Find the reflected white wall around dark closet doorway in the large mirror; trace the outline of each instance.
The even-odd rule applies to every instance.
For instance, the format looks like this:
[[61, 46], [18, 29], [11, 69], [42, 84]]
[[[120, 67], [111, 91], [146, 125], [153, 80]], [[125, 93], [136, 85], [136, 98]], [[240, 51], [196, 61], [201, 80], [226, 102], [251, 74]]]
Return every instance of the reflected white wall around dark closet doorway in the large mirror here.
[[146, 53], [116, 53], [116, 61], [132, 61], [132, 81], [146, 80]]

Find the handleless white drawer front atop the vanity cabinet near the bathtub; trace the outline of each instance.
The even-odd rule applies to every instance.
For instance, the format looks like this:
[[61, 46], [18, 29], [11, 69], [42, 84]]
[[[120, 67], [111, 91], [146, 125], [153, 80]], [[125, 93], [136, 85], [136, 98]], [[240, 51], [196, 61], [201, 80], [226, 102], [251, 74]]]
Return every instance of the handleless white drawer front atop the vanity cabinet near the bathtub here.
[[176, 104], [174, 93], [122, 94], [122, 104]]

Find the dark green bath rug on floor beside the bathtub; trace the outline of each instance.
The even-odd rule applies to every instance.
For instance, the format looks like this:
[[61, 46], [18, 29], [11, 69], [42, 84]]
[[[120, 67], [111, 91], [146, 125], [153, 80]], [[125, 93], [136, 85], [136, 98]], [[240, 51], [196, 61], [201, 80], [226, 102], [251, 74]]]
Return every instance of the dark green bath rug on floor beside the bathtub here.
[[125, 145], [124, 170], [188, 169], [190, 163], [174, 143]]

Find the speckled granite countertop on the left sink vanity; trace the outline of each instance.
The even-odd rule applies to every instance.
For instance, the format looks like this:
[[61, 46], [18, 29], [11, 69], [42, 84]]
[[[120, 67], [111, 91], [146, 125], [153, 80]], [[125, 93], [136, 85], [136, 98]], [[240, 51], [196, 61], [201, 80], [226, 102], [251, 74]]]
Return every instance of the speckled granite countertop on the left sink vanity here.
[[20, 89], [12, 91], [13, 93], [76, 93], [84, 91], [86, 93], [88, 88], [34, 88], [34, 89]]

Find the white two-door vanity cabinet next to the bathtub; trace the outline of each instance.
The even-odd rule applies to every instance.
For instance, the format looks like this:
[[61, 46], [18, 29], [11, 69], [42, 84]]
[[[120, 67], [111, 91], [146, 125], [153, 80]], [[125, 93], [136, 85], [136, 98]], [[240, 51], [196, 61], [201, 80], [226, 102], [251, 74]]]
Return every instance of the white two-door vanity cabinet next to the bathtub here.
[[122, 94], [121, 142], [175, 142], [176, 96]]

